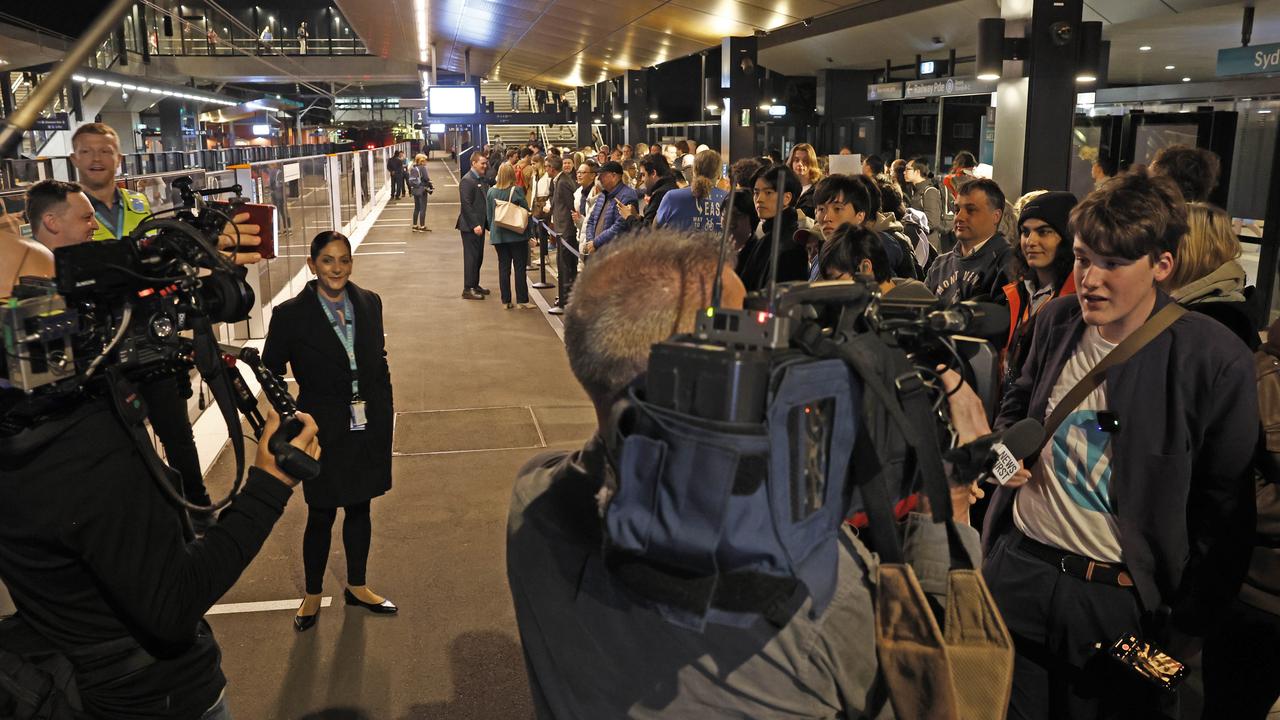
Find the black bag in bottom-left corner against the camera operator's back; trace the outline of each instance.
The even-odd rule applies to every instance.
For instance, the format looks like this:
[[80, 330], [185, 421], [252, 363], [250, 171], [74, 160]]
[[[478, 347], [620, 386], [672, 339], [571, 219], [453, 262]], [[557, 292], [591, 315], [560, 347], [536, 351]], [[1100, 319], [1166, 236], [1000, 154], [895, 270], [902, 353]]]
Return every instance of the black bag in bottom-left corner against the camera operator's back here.
[[17, 615], [0, 620], [0, 717], [86, 717], [70, 660]]

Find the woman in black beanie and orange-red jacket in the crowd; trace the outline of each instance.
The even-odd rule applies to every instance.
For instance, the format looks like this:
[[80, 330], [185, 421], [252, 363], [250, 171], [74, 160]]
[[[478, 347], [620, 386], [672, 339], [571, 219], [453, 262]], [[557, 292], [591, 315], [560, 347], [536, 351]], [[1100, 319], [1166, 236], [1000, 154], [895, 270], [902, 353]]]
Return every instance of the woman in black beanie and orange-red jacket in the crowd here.
[[1014, 282], [1005, 286], [1009, 338], [1005, 342], [1005, 387], [1018, 379], [1032, 340], [1032, 318], [1050, 300], [1075, 293], [1075, 256], [1066, 240], [1066, 219], [1075, 208], [1070, 192], [1042, 192], [1024, 201], [1018, 215], [1018, 242], [1010, 254]]

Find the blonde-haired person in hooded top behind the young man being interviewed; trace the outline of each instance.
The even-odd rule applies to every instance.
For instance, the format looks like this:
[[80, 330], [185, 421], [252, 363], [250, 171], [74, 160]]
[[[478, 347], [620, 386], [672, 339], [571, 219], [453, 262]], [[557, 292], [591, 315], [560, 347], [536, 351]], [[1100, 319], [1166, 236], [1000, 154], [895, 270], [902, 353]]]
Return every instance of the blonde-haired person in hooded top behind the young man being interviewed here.
[[1174, 272], [1162, 290], [1188, 310], [1208, 315], [1234, 332], [1249, 350], [1261, 342], [1252, 304], [1244, 296], [1240, 241], [1225, 210], [1187, 204], [1187, 237], [1178, 246]]

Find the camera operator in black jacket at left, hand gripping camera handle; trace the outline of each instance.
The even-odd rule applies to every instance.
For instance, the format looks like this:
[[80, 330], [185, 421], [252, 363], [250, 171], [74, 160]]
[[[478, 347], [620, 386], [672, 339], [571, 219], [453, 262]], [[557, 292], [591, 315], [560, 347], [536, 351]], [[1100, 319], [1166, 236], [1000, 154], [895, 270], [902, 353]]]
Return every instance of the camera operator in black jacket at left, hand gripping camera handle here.
[[[221, 521], [188, 543], [110, 405], [79, 401], [35, 450], [0, 454], [0, 580], [18, 609], [5, 624], [24, 623], [72, 661], [88, 716], [227, 720], [220, 651], [202, 616], [297, 484], [266, 450], [279, 419], [270, 414]], [[317, 457], [316, 425], [298, 418], [292, 445]]]

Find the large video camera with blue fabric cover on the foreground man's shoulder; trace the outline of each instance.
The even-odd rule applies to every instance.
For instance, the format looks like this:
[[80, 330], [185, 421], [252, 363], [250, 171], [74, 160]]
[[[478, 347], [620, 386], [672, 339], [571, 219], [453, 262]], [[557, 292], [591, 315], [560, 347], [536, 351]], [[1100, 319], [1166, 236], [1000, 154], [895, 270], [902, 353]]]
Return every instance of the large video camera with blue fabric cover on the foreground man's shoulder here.
[[[722, 237], [722, 265], [726, 246]], [[652, 347], [602, 434], [613, 491], [605, 564], [673, 624], [764, 616], [781, 626], [805, 597], [813, 612], [831, 601], [846, 520], [863, 515], [865, 537], [893, 562], [893, 527], [914, 500], [928, 498], [934, 521], [951, 519], [942, 456], [954, 441], [937, 368], [972, 378], [969, 345], [986, 348], [969, 357], [991, 359], [993, 377], [989, 343], [963, 338], [1007, 332], [1007, 310], [882, 295], [870, 278], [771, 279], [736, 310], [721, 306], [719, 275], [695, 331]]]

